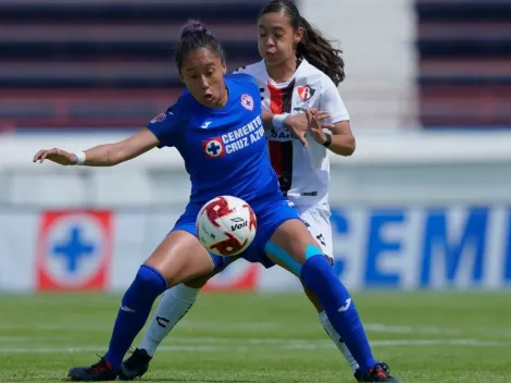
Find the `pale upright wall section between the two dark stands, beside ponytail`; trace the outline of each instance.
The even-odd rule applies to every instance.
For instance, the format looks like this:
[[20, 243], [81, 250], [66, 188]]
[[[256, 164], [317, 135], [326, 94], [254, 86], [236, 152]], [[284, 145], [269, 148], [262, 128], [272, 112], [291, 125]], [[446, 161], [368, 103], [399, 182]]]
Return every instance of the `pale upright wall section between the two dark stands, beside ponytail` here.
[[412, 0], [302, 0], [301, 13], [339, 40], [347, 78], [340, 94], [353, 127], [415, 127], [416, 58]]

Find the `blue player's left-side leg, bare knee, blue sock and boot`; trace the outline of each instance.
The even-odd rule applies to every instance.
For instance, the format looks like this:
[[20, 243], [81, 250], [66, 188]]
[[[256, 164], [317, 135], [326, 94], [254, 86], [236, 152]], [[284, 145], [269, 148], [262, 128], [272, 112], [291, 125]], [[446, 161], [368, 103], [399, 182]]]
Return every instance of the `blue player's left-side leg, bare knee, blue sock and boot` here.
[[104, 357], [90, 367], [71, 369], [70, 378], [75, 381], [115, 379], [155, 298], [167, 287], [208, 274], [213, 268], [210, 254], [195, 235], [183, 230], [171, 232], [140, 267], [124, 294]]

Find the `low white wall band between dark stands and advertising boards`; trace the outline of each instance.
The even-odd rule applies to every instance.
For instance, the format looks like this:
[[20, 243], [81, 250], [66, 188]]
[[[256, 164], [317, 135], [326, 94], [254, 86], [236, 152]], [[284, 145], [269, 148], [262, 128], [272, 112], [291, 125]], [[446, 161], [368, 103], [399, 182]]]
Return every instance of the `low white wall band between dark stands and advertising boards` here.
[[[114, 169], [32, 163], [42, 147], [78, 151], [125, 136], [1, 137], [0, 205], [184, 206], [190, 184], [174, 149], [153, 150]], [[352, 157], [331, 158], [334, 205], [511, 202], [511, 133], [361, 131], [356, 136]]]

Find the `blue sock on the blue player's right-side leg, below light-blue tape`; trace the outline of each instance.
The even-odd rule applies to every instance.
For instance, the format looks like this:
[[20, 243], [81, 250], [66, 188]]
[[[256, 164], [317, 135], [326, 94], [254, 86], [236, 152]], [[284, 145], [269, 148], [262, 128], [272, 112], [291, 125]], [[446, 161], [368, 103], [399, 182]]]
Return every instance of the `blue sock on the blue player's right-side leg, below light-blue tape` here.
[[363, 374], [376, 365], [357, 308], [323, 255], [310, 257], [301, 268], [301, 280], [317, 296], [332, 325], [359, 362]]

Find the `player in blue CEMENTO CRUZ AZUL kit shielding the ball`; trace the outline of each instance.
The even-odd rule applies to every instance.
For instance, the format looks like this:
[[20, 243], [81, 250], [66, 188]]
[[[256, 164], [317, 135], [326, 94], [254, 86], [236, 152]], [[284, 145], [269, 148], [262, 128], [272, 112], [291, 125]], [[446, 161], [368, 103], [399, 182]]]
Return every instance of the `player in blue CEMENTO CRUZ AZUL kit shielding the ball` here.
[[[111, 166], [155, 147], [173, 146], [184, 158], [191, 181], [185, 212], [123, 296], [108, 351], [90, 367], [72, 368], [68, 376], [74, 381], [115, 380], [154, 299], [169, 287], [222, 267], [225, 258], [210, 255], [200, 244], [195, 221], [208, 200], [232, 195], [245, 199], [258, 217], [256, 238], [242, 258], [266, 267], [279, 264], [297, 275], [320, 300], [363, 375], [375, 376], [373, 382], [399, 382], [376, 380], [381, 367], [349, 293], [279, 190], [266, 150], [257, 83], [248, 75], [225, 75], [221, 45], [197, 22], [183, 30], [176, 64], [188, 90], [145, 129], [121, 143], [77, 155], [50, 149], [34, 157], [34, 162]], [[308, 115], [317, 123], [314, 115]]]

